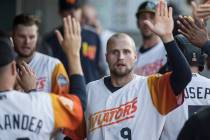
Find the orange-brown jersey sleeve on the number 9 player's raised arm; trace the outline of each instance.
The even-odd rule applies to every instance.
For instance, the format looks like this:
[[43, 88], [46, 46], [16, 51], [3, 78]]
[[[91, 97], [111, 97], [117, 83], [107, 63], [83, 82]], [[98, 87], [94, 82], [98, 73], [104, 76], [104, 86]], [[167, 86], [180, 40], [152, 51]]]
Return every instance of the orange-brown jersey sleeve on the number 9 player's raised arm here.
[[184, 91], [178, 96], [175, 95], [170, 82], [171, 72], [164, 75], [155, 74], [148, 77], [148, 87], [152, 102], [158, 112], [166, 115], [183, 103]]

